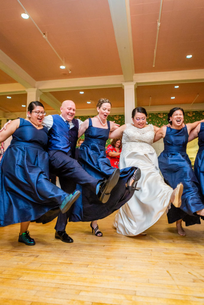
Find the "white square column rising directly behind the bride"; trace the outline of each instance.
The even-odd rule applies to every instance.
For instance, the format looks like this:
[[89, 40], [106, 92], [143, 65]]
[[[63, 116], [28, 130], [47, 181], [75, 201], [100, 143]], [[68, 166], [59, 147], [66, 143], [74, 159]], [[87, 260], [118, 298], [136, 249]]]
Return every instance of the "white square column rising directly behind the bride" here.
[[132, 123], [132, 110], [135, 108], [135, 81], [122, 83], [124, 89], [125, 124]]

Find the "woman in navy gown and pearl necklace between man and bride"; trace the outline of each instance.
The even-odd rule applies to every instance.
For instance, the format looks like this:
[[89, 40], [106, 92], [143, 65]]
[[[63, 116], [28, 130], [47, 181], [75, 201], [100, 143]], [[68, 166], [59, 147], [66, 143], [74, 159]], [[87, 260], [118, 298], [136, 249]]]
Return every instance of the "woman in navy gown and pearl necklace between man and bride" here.
[[[85, 139], [80, 146], [78, 161], [84, 170], [98, 179], [108, 178], [115, 170], [111, 166], [110, 160], [106, 158], [105, 149], [109, 132], [117, 128], [113, 122], [107, 120], [110, 109], [111, 103], [109, 100], [100, 99], [97, 104], [98, 116], [85, 120], [78, 134], [78, 137], [80, 137], [85, 132]], [[133, 175], [134, 178], [132, 178]], [[92, 232], [94, 230], [96, 236], [102, 236], [102, 232], [98, 229], [97, 220], [108, 216], [125, 204], [132, 197], [136, 181], [139, 178], [140, 170], [137, 167], [120, 170], [120, 178], [105, 205], [102, 205], [88, 188], [82, 188], [82, 196], [73, 205], [69, 221], [91, 221]], [[91, 197], [90, 202], [88, 198]]]

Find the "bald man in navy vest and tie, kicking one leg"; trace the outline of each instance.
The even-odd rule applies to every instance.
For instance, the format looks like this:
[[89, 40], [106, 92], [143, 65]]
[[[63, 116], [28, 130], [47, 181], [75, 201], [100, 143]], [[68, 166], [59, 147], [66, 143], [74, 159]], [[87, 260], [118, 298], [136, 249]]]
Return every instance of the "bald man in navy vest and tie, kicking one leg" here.
[[[83, 170], [74, 160], [78, 131], [83, 122], [74, 118], [76, 106], [73, 101], [64, 101], [60, 111], [61, 115], [48, 115], [42, 123], [48, 129], [47, 150], [50, 173], [59, 177], [62, 190], [72, 193], [76, 188], [76, 183], [88, 186], [97, 193], [99, 200], [105, 203], [109, 199], [109, 193], [117, 184], [119, 172], [113, 172], [106, 181], [98, 181]], [[64, 214], [60, 213], [55, 225], [55, 238], [61, 239], [63, 242], [73, 242], [65, 231], [69, 213], [69, 211]]]

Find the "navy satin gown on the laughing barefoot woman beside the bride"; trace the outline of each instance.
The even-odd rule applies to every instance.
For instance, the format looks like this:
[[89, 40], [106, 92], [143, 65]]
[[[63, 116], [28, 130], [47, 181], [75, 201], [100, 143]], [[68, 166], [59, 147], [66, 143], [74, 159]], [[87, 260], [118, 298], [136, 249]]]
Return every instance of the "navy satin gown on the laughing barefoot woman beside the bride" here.
[[187, 127], [178, 130], [167, 127], [164, 137], [164, 151], [158, 157], [159, 168], [172, 188], [182, 182], [184, 185], [180, 208], [171, 205], [167, 213], [169, 223], [183, 219], [186, 225], [200, 223], [200, 217], [194, 214], [204, 208], [200, 198], [200, 187], [191, 161], [186, 153], [188, 143]]

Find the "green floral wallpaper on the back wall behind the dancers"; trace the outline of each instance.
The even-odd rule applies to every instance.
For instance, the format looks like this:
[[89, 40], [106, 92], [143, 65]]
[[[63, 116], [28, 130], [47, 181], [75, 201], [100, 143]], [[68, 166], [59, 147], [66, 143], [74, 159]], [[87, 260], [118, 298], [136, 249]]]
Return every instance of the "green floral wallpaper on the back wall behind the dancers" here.
[[[163, 125], [167, 125], [167, 112], [154, 112], [154, 113], [148, 113], [147, 116], [147, 122], [148, 124], [153, 124], [157, 127], [161, 127]], [[80, 119], [82, 121], [86, 120], [90, 116], [81, 116], [81, 117], [76, 117], [77, 119]], [[94, 116], [92, 116], [94, 117]], [[195, 121], [200, 121], [204, 118], [204, 111], [185, 111], [185, 116], [184, 116], [184, 123], [193, 123]], [[115, 121], [115, 123], [123, 125], [125, 123], [125, 116], [124, 114], [120, 115], [109, 115], [108, 117], [109, 121]], [[82, 136], [84, 138], [84, 135]], [[111, 139], [108, 139], [106, 142], [106, 147], [109, 145], [111, 142]]]

